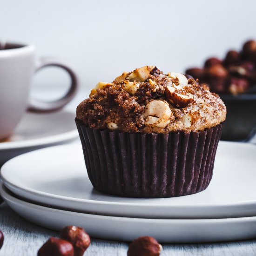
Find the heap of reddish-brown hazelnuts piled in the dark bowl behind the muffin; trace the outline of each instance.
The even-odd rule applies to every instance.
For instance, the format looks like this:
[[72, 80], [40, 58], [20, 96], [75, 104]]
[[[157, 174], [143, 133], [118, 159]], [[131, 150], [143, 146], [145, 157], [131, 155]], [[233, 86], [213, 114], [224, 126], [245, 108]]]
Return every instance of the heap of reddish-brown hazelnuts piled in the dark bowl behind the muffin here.
[[243, 44], [240, 52], [230, 50], [223, 60], [212, 57], [202, 68], [192, 67], [187, 75], [209, 85], [218, 94], [253, 93], [256, 90], [256, 41]]

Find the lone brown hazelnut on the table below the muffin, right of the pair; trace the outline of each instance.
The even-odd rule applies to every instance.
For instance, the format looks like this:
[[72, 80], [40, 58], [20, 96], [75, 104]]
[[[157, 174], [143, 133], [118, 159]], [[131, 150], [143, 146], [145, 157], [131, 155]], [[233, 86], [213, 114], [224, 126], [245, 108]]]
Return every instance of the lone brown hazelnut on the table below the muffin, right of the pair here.
[[127, 256], [159, 256], [162, 245], [151, 236], [141, 236], [130, 245]]

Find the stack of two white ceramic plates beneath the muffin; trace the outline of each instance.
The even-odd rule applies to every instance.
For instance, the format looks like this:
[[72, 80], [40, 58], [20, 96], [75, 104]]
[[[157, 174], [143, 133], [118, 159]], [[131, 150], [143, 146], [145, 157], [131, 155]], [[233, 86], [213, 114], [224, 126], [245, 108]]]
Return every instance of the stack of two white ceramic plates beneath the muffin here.
[[175, 198], [123, 198], [96, 191], [80, 144], [39, 149], [1, 168], [0, 194], [20, 216], [60, 230], [84, 227], [92, 237], [163, 243], [217, 242], [256, 237], [256, 147], [219, 144], [209, 188]]

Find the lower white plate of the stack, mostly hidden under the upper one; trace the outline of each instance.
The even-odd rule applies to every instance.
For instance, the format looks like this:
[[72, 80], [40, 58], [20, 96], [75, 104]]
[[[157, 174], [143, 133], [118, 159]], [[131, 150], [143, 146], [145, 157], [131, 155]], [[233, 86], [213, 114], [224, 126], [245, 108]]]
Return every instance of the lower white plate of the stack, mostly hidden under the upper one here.
[[140, 219], [100, 216], [53, 209], [15, 198], [0, 185], [7, 204], [20, 216], [42, 227], [61, 230], [81, 226], [92, 237], [132, 241], [153, 236], [161, 243], [200, 243], [251, 239], [256, 236], [256, 217], [231, 219]]

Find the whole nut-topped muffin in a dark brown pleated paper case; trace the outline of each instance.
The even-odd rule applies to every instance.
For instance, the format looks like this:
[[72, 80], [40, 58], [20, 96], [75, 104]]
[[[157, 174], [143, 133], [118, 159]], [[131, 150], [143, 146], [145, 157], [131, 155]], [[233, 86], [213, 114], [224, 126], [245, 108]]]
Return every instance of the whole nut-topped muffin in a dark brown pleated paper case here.
[[89, 96], [75, 122], [95, 189], [157, 198], [208, 187], [227, 111], [206, 85], [145, 66]]

